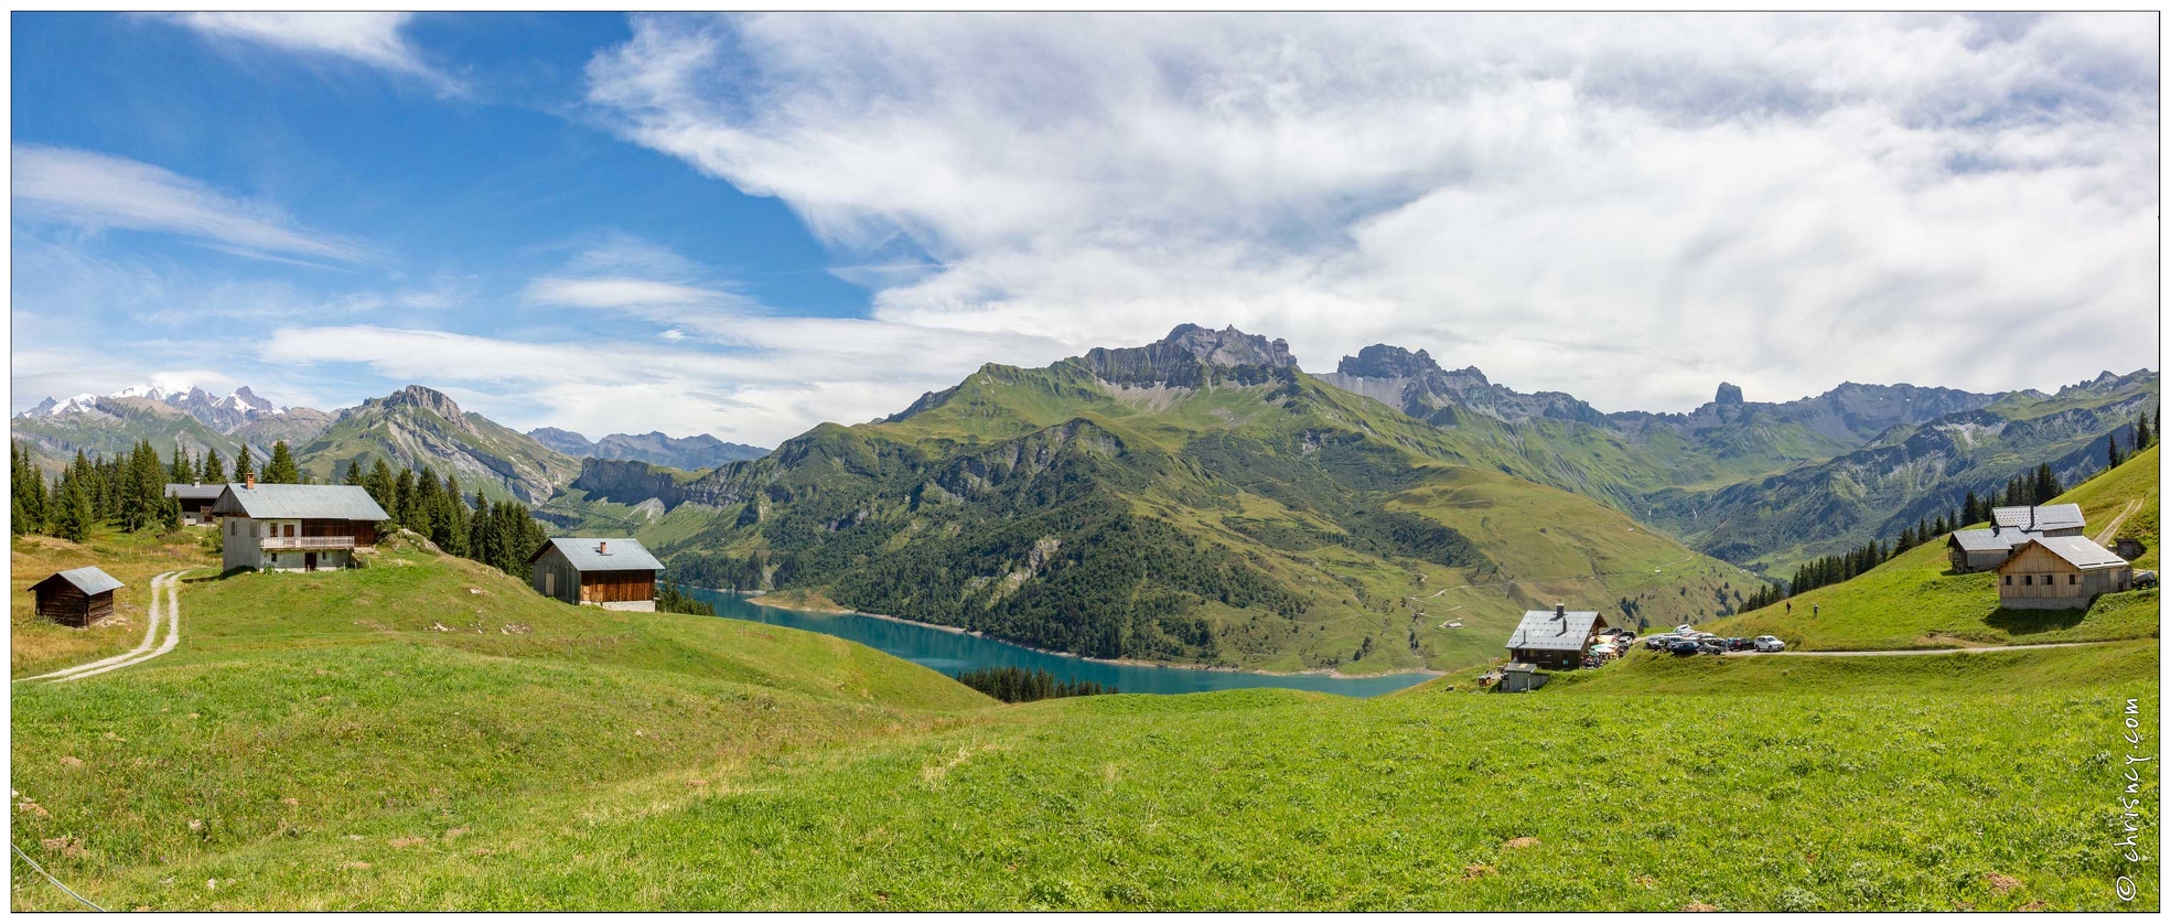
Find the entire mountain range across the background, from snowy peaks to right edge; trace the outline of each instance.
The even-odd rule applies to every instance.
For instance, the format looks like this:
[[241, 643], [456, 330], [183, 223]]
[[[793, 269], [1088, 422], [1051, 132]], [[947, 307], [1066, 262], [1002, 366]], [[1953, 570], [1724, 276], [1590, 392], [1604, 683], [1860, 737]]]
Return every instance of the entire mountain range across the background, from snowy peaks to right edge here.
[[1719, 384], [1685, 414], [1600, 412], [1422, 349], [1311, 375], [1283, 341], [1179, 325], [988, 364], [771, 453], [521, 434], [423, 386], [337, 412], [141, 388], [11, 423], [48, 464], [137, 438], [228, 458], [287, 438], [319, 479], [428, 464], [560, 531], [634, 534], [686, 581], [1046, 649], [1370, 672], [1489, 657], [1494, 629], [1554, 601], [1654, 625], [1732, 612], [1754, 573], [1891, 538], [1967, 490], [2039, 464], [2080, 482], [2158, 390], [2154, 371], [1778, 403]]

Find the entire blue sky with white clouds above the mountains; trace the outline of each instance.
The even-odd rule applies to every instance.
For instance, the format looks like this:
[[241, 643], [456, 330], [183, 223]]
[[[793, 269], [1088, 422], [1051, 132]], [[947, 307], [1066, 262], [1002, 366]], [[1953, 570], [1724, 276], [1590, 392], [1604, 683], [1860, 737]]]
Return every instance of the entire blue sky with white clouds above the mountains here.
[[11, 24], [17, 410], [773, 445], [1181, 321], [1604, 410], [2156, 362], [2145, 15]]

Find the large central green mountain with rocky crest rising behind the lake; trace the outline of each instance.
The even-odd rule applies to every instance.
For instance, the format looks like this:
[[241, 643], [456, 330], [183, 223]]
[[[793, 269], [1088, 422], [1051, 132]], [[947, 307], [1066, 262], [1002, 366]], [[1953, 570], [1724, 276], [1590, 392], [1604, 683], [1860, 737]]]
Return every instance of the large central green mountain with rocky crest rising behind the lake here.
[[636, 529], [695, 583], [1094, 657], [1446, 668], [1496, 657], [1528, 607], [1667, 623], [1750, 590], [1489, 462], [1296, 371], [1279, 343], [1185, 325], [1049, 369], [990, 364], [881, 423], [823, 425], [690, 482], [591, 462], [573, 490], [706, 510], [690, 536]]

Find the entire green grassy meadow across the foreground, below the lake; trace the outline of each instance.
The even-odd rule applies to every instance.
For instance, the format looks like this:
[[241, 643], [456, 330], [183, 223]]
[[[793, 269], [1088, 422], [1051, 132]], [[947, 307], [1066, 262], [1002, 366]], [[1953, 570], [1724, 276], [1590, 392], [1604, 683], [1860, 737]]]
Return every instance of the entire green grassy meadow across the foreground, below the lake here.
[[404, 547], [182, 614], [15, 688], [15, 842], [109, 909], [2115, 909], [2160, 707], [2154, 640], [999, 705]]

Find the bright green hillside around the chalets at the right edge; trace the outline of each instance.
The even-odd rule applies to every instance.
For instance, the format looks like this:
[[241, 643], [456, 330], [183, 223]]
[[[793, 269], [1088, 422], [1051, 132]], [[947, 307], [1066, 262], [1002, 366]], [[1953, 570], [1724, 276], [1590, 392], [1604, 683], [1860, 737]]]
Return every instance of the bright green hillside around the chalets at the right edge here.
[[[2141, 540], [2147, 551], [2134, 560], [2136, 568], [2158, 568], [2160, 562], [2158, 449], [2151, 447], [2054, 501], [2080, 503], [2091, 538]], [[2093, 642], [2156, 638], [2160, 605], [2158, 590], [2149, 588], [2102, 594], [2086, 609], [2002, 609], [1997, 575], [1954, 573], [1939, 538], [1850, 581], [1800, 594], [1791, 607], [1769, 605], [1706, 631], [1778, 636], [1789, 646], [1808, 651]]]

